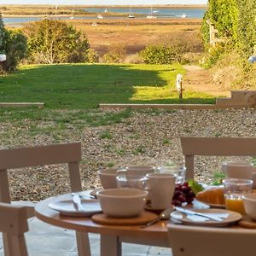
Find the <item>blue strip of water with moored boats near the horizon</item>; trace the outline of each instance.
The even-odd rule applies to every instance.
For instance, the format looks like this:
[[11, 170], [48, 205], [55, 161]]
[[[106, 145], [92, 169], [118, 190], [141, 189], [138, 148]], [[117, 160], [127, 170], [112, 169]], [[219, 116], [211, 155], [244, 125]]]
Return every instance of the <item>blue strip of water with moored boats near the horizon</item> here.
[[[101, 14], [103, 19], [124, 19], [127, 18], [128, 14], [140, 15], [136, 17], [136, 19], [143, 19], [149, 13], [151, 13], [151, 9], [148, 8], [110, 8], [107, 10], [111, 13], [123, 14], [121, 16], [106, 16], [105, 8], [87, 8], [84, 11], [91, 13], [90, 16], [75, 16], [75, 19], [78, 20], [88, 20], [95, 19], [97, 15]], [[157, 16], [161, 19], [172, 19], [172, 18], [197, 18], [201, 19], [205, 14], [205, 9], [172, 9], [172, 8], [154, 8], [152, 9], [152, 15]], [[49, 16], [50, 17], [50, 16]], [[68, 20], [68, 17], [50, 17], [55, 20]], [[5, 24], [17, 26], [20, 23], [32, 22], [36, 20], [43, 20], [43, 17], [9, 17], [3, 18], [3, 22]]]

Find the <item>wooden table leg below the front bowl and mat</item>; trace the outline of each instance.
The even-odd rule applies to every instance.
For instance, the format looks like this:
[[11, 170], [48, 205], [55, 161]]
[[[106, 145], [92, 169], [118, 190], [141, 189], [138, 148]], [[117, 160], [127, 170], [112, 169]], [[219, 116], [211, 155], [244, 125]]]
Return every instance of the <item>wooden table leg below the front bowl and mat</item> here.
[[122, 243], [118, 236], [101, 235], [101, 256], [122, 256]]

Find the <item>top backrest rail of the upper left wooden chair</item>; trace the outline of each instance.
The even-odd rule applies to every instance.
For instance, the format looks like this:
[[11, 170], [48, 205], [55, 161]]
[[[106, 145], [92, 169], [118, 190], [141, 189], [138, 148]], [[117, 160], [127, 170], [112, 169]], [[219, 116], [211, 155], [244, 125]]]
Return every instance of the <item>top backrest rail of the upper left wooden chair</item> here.
[[0, 150], [0, 170], [45, 166], [81, 160], [81, 143]]

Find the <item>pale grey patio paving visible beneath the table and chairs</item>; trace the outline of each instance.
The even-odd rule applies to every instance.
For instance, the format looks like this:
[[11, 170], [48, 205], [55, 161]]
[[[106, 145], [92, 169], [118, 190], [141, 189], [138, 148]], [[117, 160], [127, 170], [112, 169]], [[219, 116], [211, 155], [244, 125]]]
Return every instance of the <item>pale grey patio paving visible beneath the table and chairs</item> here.
[[[44, 224], [38, 218], [28, 220], [29, 231], [26, 233], [26, 245], [29, 256], [76, 256], [76, 240], [73, 230], [64, 230], [53, 225]], [[3, 256], [1, 234], [0, 256]], [[90, 234], [91, 255], [100, 255], [100, 237]], [[142, 245], [123, 245], [124, 256], [171, 256], [170, 248], [149, 247]], [[111, 255], [109, 255], [111, 256]]]

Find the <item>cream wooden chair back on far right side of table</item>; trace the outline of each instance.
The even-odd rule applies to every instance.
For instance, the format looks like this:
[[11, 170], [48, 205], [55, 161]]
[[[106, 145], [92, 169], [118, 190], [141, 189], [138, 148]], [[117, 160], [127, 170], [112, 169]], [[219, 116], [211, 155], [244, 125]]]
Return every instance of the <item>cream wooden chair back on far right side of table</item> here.
[[181, 137], [187, 178], [194, 178], [194, 156], [256, 156], [256, 137]]

